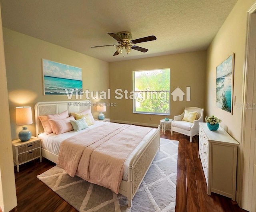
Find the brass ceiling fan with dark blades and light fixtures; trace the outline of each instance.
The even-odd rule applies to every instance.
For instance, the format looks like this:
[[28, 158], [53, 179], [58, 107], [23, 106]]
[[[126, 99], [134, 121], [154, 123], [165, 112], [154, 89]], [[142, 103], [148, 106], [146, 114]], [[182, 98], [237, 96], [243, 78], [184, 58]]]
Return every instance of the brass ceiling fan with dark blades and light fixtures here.
[[[140, 51], [140, 52], [147, 52], [148, 49], [142, 48], [140, 46], [135, 46], [134, 44], [142, 43], [142, 42], [147, 42], [147, 41], [152, 41], [156, 40], [156, 36], [148, 36], [144, 38], [138, 38], [135, 40], [132, 39], [132, 33], [130, 32], [118, 32], [118, 33], [108, 33], [112, 38], [116, 39], [118, 44], [111, 44], [111, 45], [104, 45], [104, 46], [116, 46], [116, 52], [113, 54], [118, 55], [122, 53], [123, 49], [126, 50], [127, 54], [132, 51], [132, 49]], [[92, 46], [91, 48], [98, 48], [98, 47], [104, 47], [104, 46]]]

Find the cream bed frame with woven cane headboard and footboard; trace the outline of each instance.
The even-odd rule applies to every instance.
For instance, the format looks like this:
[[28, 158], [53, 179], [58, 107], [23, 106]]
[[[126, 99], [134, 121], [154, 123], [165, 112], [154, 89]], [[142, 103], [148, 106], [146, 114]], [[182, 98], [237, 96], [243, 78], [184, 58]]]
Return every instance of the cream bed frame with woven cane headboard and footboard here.
[[[53, 147], [53, 144], [45, 144], [44, 141], [49, 141], [49, 137], [55, 138], [55, 134], [44, 134], [44, 128], [39, 120], [39, 116], [48, 114], [60, 114], [64, 111], [68, 113], [91, 110], [91, 103], [85, 101], [59, 101], [59, 102], [38, 102], [35, 105], [35, 123], [36, 136], [42, 139], [42, 156], [57, 164], [58, 148]], [[92, 128], [109, 124], [106, 122], [96, 121]], [[65, 134], [65, 133], [64, 133]], [[74, 131], [67, 132], [71, 136]], [[65, 135], [66, 136], [66, 135]], [[62, 137], [62, 135], [60, 136]], [[61, 138], [60, 138], [61, 140]], [[59, 142], [57, 142], [58, 145]], [[52, 148], [49, 148], [52, 146]], [[132, 198], [136, 194], [144, 176], [146, 175], [150, 164], [152, 163], [157, 151], [160, 148], [160, 126], [151, 130], [136, 147], [131, 155], [127, 158], [124, 165], [124, 174], [119, 186], [118, 192], [127, 198], [128, 206], [132, 206]]]

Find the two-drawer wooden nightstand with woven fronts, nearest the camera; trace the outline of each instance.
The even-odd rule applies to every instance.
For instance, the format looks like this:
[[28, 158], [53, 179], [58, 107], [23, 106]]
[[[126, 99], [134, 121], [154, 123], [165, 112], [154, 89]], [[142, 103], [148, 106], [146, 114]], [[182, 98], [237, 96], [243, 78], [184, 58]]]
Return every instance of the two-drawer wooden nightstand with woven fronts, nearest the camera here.
[[17, 172], [21, 164], [40, 158], [41, 155], [41, 139], [32, 136], [28, 141], [20, 141], [20, 139], [12, 141], [13, 161], [17, 165]]

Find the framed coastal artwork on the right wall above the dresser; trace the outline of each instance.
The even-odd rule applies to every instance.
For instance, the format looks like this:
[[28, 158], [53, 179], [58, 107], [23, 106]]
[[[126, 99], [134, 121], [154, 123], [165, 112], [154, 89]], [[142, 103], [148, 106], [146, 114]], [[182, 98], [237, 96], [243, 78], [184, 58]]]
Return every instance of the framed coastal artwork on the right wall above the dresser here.
[[233, 53], [216, 68], [216, 106], [230, 114], [233, 113]]

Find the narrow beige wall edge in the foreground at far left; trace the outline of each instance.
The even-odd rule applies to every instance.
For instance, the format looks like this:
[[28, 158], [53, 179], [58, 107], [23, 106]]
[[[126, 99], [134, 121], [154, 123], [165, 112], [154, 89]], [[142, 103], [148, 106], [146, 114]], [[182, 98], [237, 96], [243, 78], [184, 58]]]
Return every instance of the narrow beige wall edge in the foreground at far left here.
[[[17, 206], [12, 160], [11, 129], [4, 62], [4, 42], [0, 10], [0, 211], [8, 212]], [[1, 210], [2, 209], [2, 210]]]

